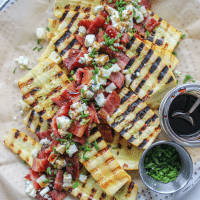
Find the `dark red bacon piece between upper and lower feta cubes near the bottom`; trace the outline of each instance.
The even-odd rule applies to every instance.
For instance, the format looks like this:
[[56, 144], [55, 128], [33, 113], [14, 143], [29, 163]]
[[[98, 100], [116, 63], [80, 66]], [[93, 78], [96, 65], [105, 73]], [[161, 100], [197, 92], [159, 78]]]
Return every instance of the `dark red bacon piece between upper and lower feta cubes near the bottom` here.
[[71, 174], [73, 179], [79, 178], [80, 162], [78, 156], [67, 157], [66, 162], [72, 164], [72, 166], [66, 166], [66, 172]]

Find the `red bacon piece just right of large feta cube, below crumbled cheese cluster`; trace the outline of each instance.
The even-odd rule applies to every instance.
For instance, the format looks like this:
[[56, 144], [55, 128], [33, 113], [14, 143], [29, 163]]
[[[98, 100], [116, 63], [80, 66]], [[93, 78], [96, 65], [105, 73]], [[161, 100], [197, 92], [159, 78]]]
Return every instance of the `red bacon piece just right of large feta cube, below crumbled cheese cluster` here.
[[77, 137], [82, 137], [85, 133], [88, 124], [81, 125], [79, 121], [73, 121], [71, 127], [69, 128], [69, 132]]

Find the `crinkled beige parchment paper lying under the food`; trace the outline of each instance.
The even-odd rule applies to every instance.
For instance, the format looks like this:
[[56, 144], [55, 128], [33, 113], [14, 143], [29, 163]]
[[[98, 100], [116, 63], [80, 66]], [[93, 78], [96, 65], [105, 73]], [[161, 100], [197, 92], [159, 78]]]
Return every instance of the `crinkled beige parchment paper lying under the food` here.
[[[0, 13], [0, 199], [26, 200], [24, 176], [28, 166], [4, 144], [5, 136], [12, 128], [17, 128], [37, 139], [22, 122], [17, 107], [21, 93], [14, 80], [22, 78], [28, 70], [20, 70], [15, 59], [19, 56], [29, 58], [29, 68], [33, 68], [48, 41], [37, 44], [36, 28], [47, 26], [47, 19], [53, 17], [53, 0], [18, 0], [6, 11]], [[175, 49], [180, 61], [177, 69], [182, 72], [179, 84], [184, 76], [190, 74], [197, 83], [200, 80], [200, 1], [198, 0], [162, 0], [154, 1], [152, 6], [158, 16], [187, 36]], [[38, 52], [34, 47], [44, 48]], [[17, 116], [17, 121], [13, 118]], [[167, 139], [163, 133], [158, 139]], [[158, 140], [157, 139], [157, 140]], [[193, 162], [200, 160], [200, 148], [187, 148]], [[144, 188], [138, 172], [131, 172], [140, 191]], [[73, 199], [71, 196], [66, 199]]]

